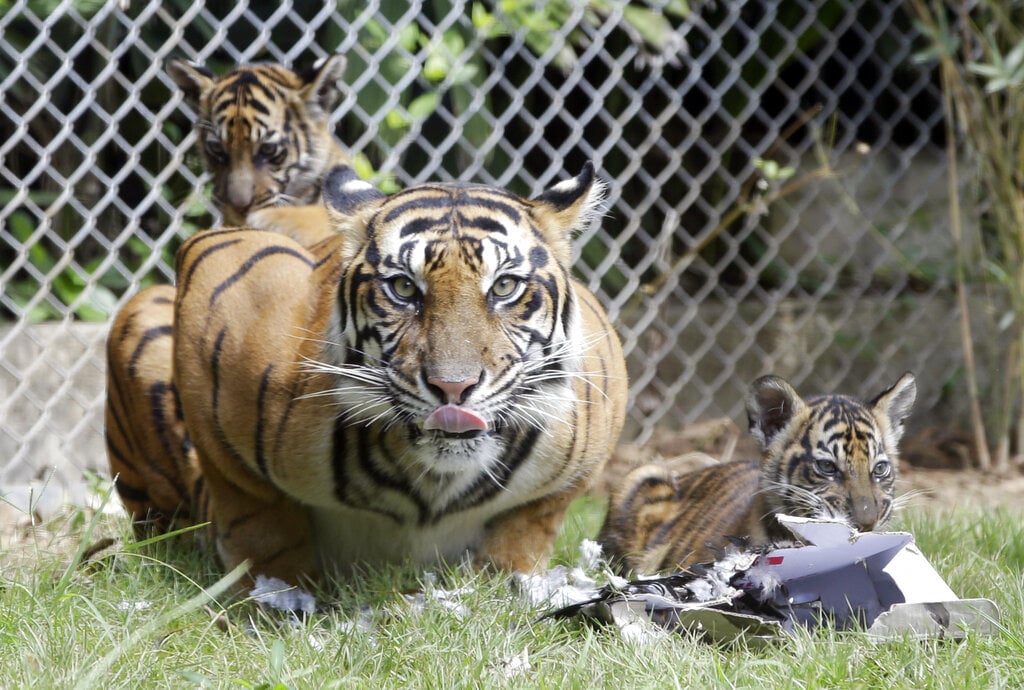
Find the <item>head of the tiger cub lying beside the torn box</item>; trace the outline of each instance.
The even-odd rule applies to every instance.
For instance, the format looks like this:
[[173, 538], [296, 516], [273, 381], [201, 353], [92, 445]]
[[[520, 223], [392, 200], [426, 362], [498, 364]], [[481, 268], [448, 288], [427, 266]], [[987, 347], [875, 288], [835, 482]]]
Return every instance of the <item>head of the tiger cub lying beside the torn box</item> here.
[[866, 403], [845, 395], [805, 401], [782, 379], [758, 379], [746, 409], [763, 449], [766, 506], [842, 520], [861, 531], [885, 525], [893, 512], [902, 422], [915, 396], [910, 374]]

